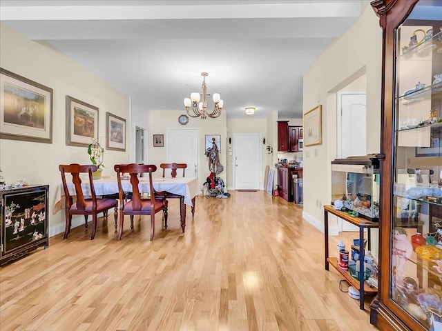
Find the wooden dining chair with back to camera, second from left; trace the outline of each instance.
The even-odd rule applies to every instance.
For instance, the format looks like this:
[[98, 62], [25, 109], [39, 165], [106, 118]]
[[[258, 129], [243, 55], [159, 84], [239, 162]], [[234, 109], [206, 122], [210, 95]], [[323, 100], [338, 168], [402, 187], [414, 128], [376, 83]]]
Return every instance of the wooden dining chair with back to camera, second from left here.
[[[131, 217], [131, 229], [133, 230], [134, 215], [150, 215], [151, 216], [151, 241], [155, 232], [155, 214], [164, 210], [164, 223], [167, 224], [167, 200], [159, 199], [164, 196], [164, 192], [157, 192], [153, 188], [152, 173], [157, 171], [157, 166], [153, 164], [116, 164], [114, 170], [117, 172], [118, 194], [119, 194], [119, 227], [117, 240], [122, 239], [124, 216]], [[129, 181], [132, 186], [132, 199], [126, 200], [126, 192], [122, 187], [122, 174], [129, 174]], [[148, 174], [149, 179], [149, 197], [142, 197], [142, 192], [138, 187], [140, 180], [138, 176]], [[166, 228], [166, 226], [165, 226]]]

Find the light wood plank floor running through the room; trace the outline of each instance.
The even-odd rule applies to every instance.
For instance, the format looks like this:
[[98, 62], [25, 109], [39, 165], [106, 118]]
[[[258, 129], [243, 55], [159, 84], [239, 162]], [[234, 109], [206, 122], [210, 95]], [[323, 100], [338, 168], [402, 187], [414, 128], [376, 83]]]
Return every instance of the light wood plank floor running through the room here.
[[0, 330], [376, 330], [324, 270], [323, 234], [302, 207], [231, 193], [197, 197], [184, 234], [173, 199], [169, 229], [157, 216], [153, 241], [137, 217], [116, 241], [109, 217], [93, 241], [81, 226], [3, 266]]

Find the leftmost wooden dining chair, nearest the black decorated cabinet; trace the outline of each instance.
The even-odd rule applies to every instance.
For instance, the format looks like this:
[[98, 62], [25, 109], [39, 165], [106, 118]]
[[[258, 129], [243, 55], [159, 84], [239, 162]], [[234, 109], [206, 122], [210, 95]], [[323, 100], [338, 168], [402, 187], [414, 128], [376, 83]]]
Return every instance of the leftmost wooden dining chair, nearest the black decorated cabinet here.
[[[117, 225], [118, 201], [116, 199], [99, 199], [95, 194], [92, 173], [97, 170], [97, 165], [79, 165], [78, 163], [71, 163], [69, 165], [59, 165], [61, 172], [61, 181], [63, 183], [64, 196], [66, 197], [66, 230], [64, 231], [63, 239], [68, 238], [70, 226], [72, 225], [73, 215], [84, 215], [84, 227], [88, 228], [88, 216], [92, 215], [92, 235], [90, 240], [95, 238], [97, 232], [97, 215], [100, 212], [104, 213], [104, 217], [108, 217], [108, 210], [114, 208], [115, 225]], [[66, 174], [72, 175], [72, 183], [75, 188], [75, 195], [68, 190], [68, 182], [66, 181]], [[90, 186], [90, 196], [87, 196], [81, 188], [81, 174], [88, 174], [88, 184]]]

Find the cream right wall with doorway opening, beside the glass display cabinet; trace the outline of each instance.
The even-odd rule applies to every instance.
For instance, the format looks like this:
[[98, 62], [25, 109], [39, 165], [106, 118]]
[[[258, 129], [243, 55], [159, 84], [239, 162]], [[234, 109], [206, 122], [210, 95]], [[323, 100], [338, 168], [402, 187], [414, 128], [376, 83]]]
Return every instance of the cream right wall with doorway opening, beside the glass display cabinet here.
[[[347, 33], [321, 54], [304, 76], [303, 112], [323, 106], [323, 143], [304, 148], [303, 217], [323, 230], [323, 205], [331, 203], [331, 162], [336, 158], [336, 92], [366, 74], [367, 153], [379, 152], [382, 31], [370, 6]], [[318, 188], [323, 188], [318, 190]], [[336, 230], [336, 224], [331, 224]]]

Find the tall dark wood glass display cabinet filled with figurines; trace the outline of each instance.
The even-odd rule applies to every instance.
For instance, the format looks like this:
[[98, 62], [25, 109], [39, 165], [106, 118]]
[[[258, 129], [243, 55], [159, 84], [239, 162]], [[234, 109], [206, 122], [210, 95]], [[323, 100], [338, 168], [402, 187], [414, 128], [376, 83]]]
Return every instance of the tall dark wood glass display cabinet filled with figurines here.
[[383, 28], [380, 330], [442, 330], [442, 1], [376, 0]]

